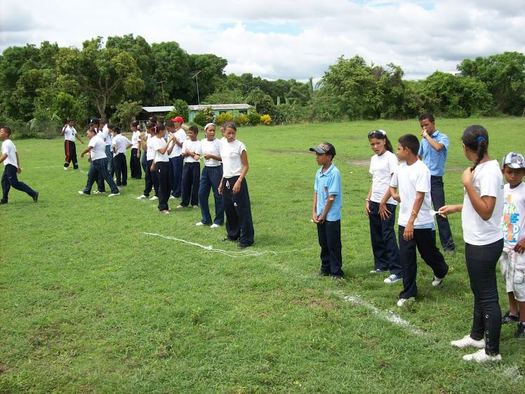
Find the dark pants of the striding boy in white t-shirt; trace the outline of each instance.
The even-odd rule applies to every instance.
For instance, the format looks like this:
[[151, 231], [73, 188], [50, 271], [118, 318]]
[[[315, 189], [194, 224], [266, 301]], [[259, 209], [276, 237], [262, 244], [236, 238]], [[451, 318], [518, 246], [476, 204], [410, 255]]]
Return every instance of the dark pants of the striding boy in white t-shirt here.
[[445, 277], [448, 272], [448, 265], [436, 247], [436, 237], [430, 228], [414, 229], [414, 237], [410, 241], [404, 240], [404, 230], [405, 228], [399, 225], [399, 254], [401, 255], [401, 272], [403, 273], [403, 291], [399, 293], [399, 298], [410, 298], [418, 294], [416, 247], [423, 261], [432, 268], [437, 277]]

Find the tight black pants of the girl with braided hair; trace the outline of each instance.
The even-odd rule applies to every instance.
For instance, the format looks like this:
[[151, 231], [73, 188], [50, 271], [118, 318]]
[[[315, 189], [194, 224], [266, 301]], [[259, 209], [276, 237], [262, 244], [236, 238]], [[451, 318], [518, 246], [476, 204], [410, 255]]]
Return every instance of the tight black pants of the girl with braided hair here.
[[474, 293], [474, 318], [470, 336], [477, 341], [485, 336], [485, 352], [488, 355], [500, 353], [501, 309], [496, 263], [502, 251], [503, 239], [482, 246], [465, 244], [470, 289]]

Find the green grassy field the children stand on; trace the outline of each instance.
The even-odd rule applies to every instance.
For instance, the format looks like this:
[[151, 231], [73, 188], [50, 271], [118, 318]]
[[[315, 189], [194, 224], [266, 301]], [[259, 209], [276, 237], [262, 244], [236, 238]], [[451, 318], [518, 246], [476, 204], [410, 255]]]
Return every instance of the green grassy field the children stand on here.
[[[450, 204], [463, 201], [460, 136], [475, 123], [489, 131], [494, 159], [525, 152], [525, 119], [438, 119], [451, 140]], [[62, 139], [15, 140], [20, 180], [40, 197], [11, 190], [0, 206], [0, 393], [523, 393], [525, 341], [514, 325], [502, 330], [502, 362], [465, 362], [472, 352], [448, 345], [472, 319], [460, 215], [451, 216], [449, 275], [433, 288], [419, 261], [411, 308], [395, 305], [400, 282], [368, 274], [366, 133], [379, 128], [394, 145], [420, 131], [417, 121], [239, 129], [255, 227], [243, 252], [220, 242], [223, 227], [196, 227], [197, 209], [159, 215], [156, 202], [135, 199], [143, 180], [111, 199], [78, 195], [88, 163], [63, 171]], [[340, 282], [312, 277], [308, 149], [324, 140], [343, 180]]]

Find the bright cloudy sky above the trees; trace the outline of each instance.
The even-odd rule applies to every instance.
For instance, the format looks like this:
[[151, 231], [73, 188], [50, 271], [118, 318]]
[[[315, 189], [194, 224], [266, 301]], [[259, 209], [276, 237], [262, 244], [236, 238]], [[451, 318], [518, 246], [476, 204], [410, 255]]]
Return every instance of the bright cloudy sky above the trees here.
[[317, 80], [340, 55], [423, 79], [465, 58], [525, 53], [524, 32], [525, 0], [0, 0], [0, 51], [133, 33], [266, 79]]

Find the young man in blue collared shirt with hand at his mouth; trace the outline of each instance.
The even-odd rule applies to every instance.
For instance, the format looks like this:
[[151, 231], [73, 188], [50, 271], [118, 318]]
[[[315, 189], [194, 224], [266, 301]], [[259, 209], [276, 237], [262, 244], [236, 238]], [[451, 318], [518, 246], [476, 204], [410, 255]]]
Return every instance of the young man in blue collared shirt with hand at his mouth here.
[[[421, 140], [418, 158], [430, 170], [430, 197], [434, 210], [439, 211], [441, 206], [445, 205], [445, 192], [443, 190], [443, 175], [445, 173], [446, 156], [448, 155], [448, 137], [444, 133], [436, 130], [434, 116], [425, 112], [419, 117], [421, 126]], [[437, 215], [437, 229], [439, 230], [439, 240], [446, 253], [452, 253], [456, 247], [452, 238], [451, 227], [448, 224], [448, 218]]]

